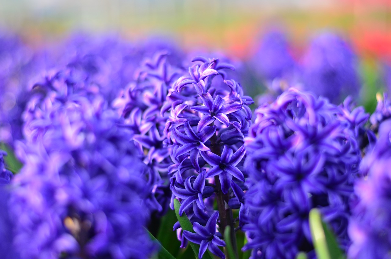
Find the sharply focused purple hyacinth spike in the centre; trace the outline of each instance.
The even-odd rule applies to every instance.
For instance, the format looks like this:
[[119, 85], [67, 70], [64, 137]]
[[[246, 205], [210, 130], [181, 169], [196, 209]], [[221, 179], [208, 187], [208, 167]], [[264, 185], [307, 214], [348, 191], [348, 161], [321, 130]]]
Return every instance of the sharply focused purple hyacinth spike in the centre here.
[[[230, 226], [231, 242], [235, 243], [234, 219], [226, 204], [233, 204], [235, 209], [240, 207], [240, 202], [230, 202], [235, 194], [242, 201], [241, 188], [245, 186], [236, 182], [244, 182], [241, 171], [245, 155], [243, 144], [251, 119], [248, 105], [253, 101], [243, 94], [239, 83], [224, 77], [223, 71], [233, 69], [231, 65], [219, 59], [203, 57], [196, 57], [193, 61], [196, 63], [189, 68], [188, 75], [179, 77], [169, 89], [161, 109], [163, 115], [169, 114], [164, 132], [171, 157], [174, 158], [174, 164], [170, 167], [170, 187], [173, 198], [178, 198], [183, 207], [180, 213], [185, 212], [193, 226], [205, 228], [212, 219], [215, 224], [220, 215], [219, 232], [224, 232], [226, 226]], [[225, 83], [224, 87], [222, 83]], [[178, 193], [183, 182], [186, 185], [193, 178], [205, 185], [202, 192], [197, 192], [197, 201], [195, 194], [188, 198], [190, 194]], [[233, 190], [231, 186], [238, 187], [240, 191]], [[212, 187], [215, 195], [211, 196], [212, 189], [209, 187]], [[219, 214], [211, 207], [214, 199], [217, 200]], [[205, 216], [209, 220], [205, 221]], [[178, 227], [176, 224], [175, 228]], [[213, 231], [207, 228], [208, 232], [198, 233], [195, 230], [201, 235], [198, 237], [184, 232], [179, 236], [182, 245], [186, 243], [184, 238], [190, 235], [190, 241], [202, 246], [200, 258], [207, 248], [225, 258], [223, 253], [217, 252], [217, 246], [223, 246], [224, 242], [211, 241], [214, 234], [207, 233], [216, 233], [216, 229], [214, 226]]]

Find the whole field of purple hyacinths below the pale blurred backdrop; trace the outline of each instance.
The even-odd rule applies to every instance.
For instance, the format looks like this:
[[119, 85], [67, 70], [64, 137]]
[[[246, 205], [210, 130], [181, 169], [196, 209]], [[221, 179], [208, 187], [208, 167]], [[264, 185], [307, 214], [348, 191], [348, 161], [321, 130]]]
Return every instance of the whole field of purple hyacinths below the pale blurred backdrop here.
[[0, 257], [389, 258], [388, 34], [282, 28], [2, 29]]

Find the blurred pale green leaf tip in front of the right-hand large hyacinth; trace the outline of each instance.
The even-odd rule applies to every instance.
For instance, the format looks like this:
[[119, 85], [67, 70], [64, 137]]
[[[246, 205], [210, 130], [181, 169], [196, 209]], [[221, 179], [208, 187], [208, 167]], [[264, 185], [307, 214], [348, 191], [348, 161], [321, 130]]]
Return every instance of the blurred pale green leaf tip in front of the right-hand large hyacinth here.
[[312, 241], [318, 259], [344, 259], [334, 234], [322, 221], [318, 209], [312, 209], [309, 215]]

